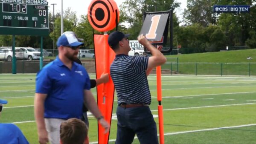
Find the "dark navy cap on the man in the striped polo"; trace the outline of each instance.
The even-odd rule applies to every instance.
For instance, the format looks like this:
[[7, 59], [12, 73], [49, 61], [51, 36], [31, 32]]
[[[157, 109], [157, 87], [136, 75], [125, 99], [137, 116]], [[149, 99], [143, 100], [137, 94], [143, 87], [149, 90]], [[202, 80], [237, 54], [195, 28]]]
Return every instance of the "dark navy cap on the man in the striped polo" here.
[[119, 41], [121, 41], [124, 37], [129, 37], [130, 34], [124, 34], [119, 31], [112, 32], [108, 37], [108, 44], [111, 48], [116, 46]]

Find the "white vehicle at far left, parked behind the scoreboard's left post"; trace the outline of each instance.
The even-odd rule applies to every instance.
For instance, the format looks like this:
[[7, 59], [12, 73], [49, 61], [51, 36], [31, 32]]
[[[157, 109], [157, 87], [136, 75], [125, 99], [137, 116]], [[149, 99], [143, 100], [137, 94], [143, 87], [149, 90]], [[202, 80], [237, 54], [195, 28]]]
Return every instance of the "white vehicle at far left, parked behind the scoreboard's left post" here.
[[[21, 49], [15, 49], [15, 57], [17, 60], [24, 58], [24, 53]], [[0, 49], [0, 60], [12, 61], [12, 49]]]

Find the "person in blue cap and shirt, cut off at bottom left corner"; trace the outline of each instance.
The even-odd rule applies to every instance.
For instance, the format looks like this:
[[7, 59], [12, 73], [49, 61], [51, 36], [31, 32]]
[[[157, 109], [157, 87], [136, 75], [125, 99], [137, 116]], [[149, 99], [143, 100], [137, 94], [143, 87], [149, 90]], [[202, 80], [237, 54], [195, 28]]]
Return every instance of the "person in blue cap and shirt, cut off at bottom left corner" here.
[[[3, 104], [7, 103], [8, 101], [0, 99], [0, 115]], [[0, 123], [0, 144], [29, 144], [29, 142], [16, 125]]]

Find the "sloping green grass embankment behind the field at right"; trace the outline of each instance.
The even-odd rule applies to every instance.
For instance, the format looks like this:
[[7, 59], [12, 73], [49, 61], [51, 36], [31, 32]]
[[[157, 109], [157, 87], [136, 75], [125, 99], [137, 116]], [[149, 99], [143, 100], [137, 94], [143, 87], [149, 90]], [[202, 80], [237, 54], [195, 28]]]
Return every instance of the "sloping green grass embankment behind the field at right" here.
[[[247, 59], [251, 57], [253, 59]], [[167, 55], [163, 69], [190, 75], [256, 75], [256, 49]], [[179, 64], [177, 64], [178, 58]]]

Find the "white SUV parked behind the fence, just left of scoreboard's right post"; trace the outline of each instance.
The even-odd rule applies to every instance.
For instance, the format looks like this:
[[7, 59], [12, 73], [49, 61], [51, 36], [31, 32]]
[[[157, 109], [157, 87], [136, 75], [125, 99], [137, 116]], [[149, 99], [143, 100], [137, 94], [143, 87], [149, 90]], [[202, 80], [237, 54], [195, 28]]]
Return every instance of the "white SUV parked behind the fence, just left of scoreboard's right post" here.
[[[24, 52], [24, 58], [27, 60], [39, 60], [41, 52], [38, 52], [31, 47], [15, 47], [15, 49], [21, 49]], [[44, 57], [44, 56], [43, 56]]]

